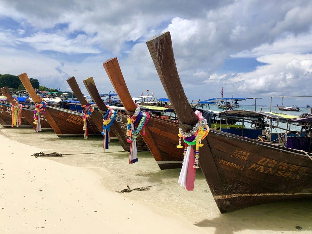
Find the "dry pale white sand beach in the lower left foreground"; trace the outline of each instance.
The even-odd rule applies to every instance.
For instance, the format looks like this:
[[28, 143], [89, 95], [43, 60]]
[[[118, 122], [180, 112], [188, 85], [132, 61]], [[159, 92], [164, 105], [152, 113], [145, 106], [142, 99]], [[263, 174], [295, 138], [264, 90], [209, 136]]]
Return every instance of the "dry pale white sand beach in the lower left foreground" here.
[[1, 233], [203, 233], [182, 217], [107, 191], [100, 176], [1, 138]]

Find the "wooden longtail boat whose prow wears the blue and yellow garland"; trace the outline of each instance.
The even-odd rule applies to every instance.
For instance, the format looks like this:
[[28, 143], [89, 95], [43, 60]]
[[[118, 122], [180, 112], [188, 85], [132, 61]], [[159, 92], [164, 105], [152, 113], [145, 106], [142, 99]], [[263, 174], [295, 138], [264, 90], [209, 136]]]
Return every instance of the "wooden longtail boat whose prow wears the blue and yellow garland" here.
[[[93, 77], [89, 77], [85, 80], [83, 80], [83, 83], [85, 84], [86, 89], [88, 90], [90, 96], [92, 97], [92, 100], [94, 101], [95, 105], [99, 108], [99, 110], [103, 113], [103, 115], [108, 110], [107, 106], [103, 102], [103, 100], [100, 97], [100, 94], [95, 86], [95, 82], [93, 80]], [[101, 114], [101, 123], [103, 124], [103, 115]], [[103, 125], [102, 125], [103, 126]], [[103, 127], [102, 127], [103, 128]], [[130, 144], [127, 142], [127, 115], [123, 115], [118, 113], [115, 119], [115, 123], [110, 127], [111, 132], [113, 132], [121, 144], [124, 151], [130, 151]], [[144, 140], [142, 138], [138, 138], [137, 141], [138, 150], [144, 151], [148, 150], [146, 144], [144, 143]]]

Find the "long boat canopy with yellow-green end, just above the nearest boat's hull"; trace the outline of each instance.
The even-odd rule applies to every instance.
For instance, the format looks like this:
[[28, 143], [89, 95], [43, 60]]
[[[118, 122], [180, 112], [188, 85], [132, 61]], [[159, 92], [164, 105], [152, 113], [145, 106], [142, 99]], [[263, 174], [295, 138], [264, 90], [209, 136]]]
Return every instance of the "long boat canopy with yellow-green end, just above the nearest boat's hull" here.
[[299, 116], [287, 115], [274, 112], [260, 112], [252, 110], [225, 110], [219, 113], [219, 116], [228, 118], [242, 117], [266, 117], [275, 121], [286, 122], [288, 119], [298, 118]]

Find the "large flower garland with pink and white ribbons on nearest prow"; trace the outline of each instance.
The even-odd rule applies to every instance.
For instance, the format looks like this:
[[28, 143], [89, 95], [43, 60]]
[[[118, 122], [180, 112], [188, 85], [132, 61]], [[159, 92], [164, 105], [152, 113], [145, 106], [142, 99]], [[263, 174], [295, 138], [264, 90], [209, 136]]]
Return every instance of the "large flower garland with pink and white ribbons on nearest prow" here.
[[[179, 128], [178, 134], [179, 144], [177, 145], [177, 148], [183, 148], [181, 138], [184, 140], [184, 159], [178, 182], [181, 186], [186, 187], [187, 190], [194, 189], [195, 170], [196, 168], [199, 168], [199, 147], [203, 146], [202, 139], [204, 139], [209, 133], [207, 120], [202, 117], [202, 113], [199, 110], [196, 110], [195, 115], [197, 116], [198, 121], [193, 129], [184, 132], [183, 129]], [[196, 146], [195, 155], [193, 145]]]

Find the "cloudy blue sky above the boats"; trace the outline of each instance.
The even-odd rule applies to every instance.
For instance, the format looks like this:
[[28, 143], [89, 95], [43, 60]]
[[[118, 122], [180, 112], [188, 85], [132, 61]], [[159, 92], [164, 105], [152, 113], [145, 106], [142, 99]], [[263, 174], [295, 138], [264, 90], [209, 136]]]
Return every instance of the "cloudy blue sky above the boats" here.
[[312, 95], [311, 12], [312, 1], [295, 0], [0, 0], [0, 74], [26, 72], [63, 91], [75, 76], [84, 94], [92, 76], [108, 93], [102, 64], [117, 57], [133, 97], [166, 97], [146, 41], [169, 31], [189, 101], [220, 98], [223, 87], [224, 96], [270, 105], [271, 96]]

